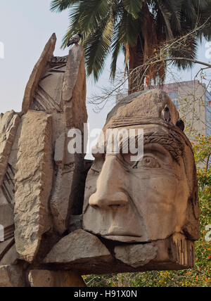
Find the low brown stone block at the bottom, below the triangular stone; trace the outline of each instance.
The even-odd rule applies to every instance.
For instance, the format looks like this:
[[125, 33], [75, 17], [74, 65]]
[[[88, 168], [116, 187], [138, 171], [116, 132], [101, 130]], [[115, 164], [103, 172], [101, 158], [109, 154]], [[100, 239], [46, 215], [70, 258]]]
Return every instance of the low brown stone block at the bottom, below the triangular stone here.
[[32, 288], [86, 287], [82, 276], [74, 271], [32, 270], [29, 281]]

